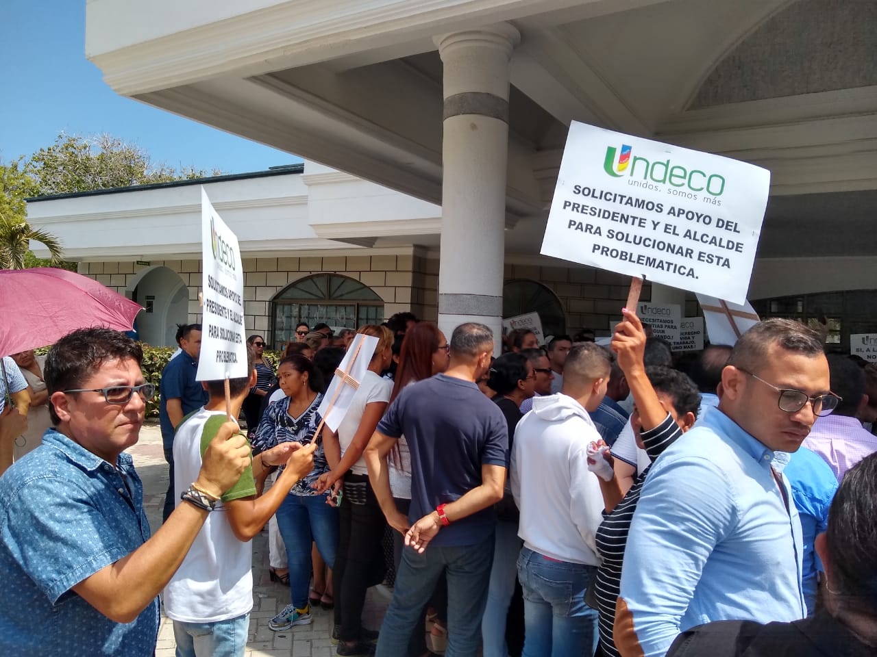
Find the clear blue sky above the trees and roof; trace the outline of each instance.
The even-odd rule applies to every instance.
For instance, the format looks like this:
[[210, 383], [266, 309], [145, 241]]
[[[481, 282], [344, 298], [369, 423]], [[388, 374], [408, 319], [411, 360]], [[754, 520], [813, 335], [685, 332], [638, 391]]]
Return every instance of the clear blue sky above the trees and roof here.
[[117, 95], [85, 59], [85, 0], [0, 0], [0, 160], [30, 155], [61, 132], [107, 132], [141, 146], [153, 163], [261, 171], [300, 162]]

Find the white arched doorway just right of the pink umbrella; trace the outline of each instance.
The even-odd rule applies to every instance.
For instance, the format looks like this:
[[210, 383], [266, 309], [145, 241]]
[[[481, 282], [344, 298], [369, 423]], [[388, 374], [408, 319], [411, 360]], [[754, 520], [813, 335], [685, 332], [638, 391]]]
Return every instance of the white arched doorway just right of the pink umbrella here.
[[154, 266], [139, 272], [126, 289], [143, 310], [136, 326], [141, 342], [153, 347], [175, 347], [176, 325], [189, 321], [189, 288], [168, 267]]

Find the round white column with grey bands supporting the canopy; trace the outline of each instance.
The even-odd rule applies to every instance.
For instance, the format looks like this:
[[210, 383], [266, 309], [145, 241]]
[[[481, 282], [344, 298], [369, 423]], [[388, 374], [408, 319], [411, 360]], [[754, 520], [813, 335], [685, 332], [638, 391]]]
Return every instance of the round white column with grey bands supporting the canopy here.
[[444, 64], [439, 328], [466, 321], [503, 335], [509, 60], [520, 35], [508, 24], [437, 37]]

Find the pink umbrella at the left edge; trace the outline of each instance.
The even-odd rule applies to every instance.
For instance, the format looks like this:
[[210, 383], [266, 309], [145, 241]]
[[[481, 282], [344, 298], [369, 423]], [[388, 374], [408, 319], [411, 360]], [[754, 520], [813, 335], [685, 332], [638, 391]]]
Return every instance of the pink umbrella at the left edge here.
[[52, 344], [75, 329], [130, 331], [142, 310], [96, 280], [64, 269], [0, 271], [0, 355]]

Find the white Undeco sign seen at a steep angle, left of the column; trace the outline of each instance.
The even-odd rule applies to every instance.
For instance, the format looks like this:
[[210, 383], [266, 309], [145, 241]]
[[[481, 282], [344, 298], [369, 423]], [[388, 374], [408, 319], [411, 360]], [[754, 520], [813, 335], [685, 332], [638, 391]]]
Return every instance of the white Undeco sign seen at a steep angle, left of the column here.
[[246, 371], [244, 337], [244, 267], [238, 237], [229, 230], [201, 188], [203, 318], [201, 357], [196, 380], [243, 378]]

